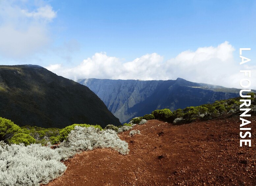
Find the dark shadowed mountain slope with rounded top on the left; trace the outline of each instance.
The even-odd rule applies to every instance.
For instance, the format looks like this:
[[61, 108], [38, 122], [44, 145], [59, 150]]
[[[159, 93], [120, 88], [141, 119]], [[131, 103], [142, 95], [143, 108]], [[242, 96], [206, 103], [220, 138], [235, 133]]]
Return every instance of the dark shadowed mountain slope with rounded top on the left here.
[[0, 66], [0, 100], [0, 116], [20, 126], [120, 124], [88, 87], [41, 66]]

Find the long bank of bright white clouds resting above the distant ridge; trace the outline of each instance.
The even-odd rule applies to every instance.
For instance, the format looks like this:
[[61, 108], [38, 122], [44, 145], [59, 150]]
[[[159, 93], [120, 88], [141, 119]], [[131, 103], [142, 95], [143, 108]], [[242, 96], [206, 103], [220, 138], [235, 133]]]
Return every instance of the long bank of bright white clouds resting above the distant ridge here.
[[[101, 52], [83, 60], [73, 68], [59, 64], [46, 68], [73, 80], [84, 78], [168, 80], [181, 77], [192, 82], [239, 88], [242, 77], [239, 73], [241, 66], [234, 60], [234, 51], [234, 47], [225, 41], [216, 47], [208, 46], [200, 47], [196, 51], [183, 51], [175, 58], [166, 61], [163, 56], [152, 53], [130, 62], [122, 62], [119, 58]], [[244, 68], [255, 70], [255, 66], [250, 65]]]

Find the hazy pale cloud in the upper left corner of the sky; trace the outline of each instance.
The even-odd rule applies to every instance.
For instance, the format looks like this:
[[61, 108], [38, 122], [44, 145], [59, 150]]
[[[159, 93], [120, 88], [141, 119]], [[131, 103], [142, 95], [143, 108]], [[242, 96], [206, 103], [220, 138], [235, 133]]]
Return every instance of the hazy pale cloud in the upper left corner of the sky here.
[[[0, 56], [22, 58], [39, 51], [50, 38], [56, 12], [44, 1], [0, 1]], [[28, 7], [34, 5], [35, 10]]]

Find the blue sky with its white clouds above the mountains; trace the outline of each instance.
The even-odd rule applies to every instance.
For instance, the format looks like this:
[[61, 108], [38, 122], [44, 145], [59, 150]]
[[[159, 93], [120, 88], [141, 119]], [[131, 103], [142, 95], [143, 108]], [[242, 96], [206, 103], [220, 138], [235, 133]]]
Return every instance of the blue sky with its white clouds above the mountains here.
[[[240, 47], [252, 48], [246, 68], [255, 69], [255, 10], [256, 1], [236, 0], [0, 0], [0, 64], [41, 65], [74, 80], [179, 76], [238, 87]], [[221, 68], [219, 78], [210, 72]]]

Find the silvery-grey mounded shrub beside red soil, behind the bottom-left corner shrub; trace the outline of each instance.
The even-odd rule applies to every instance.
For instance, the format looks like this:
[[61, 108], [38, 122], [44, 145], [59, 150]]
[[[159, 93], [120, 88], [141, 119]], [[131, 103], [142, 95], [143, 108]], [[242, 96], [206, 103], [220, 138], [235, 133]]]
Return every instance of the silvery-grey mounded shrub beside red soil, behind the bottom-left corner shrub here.
[[68, 140], [60, 143], [56, 150], [66, 160], [79, 151], [92, 150], [94, 148], [113, 148], [121, 154], [128, 154], [128, 143], [122, 141], [113, 130], [100, 131], [94, 127], [75, 126], [68, 135]]

